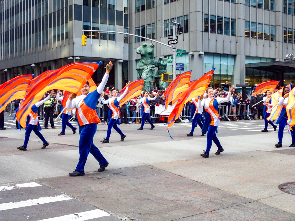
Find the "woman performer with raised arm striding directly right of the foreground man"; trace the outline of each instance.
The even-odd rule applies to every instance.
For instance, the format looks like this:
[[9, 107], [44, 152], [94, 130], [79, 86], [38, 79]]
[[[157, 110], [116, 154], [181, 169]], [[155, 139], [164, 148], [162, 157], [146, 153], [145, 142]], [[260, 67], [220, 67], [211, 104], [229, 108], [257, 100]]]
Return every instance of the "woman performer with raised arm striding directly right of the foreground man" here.
[[120, 100], [122, 100], [124, 95], [127, 93], [129, 83], [130, 82], [128, 82], [126, 84], [126, 86], [127, 86], [126, 89], [124, 90], [123, 94], [120, 95], [119, 97], [117, 97], [117, 94], [118, 94], [117, 90], [112, 90], [112, 96], [113, 96], [112, 98], [109, 98], [107, 100], [101, 100], [103, 104], [108, 104], [110, 110], [112, 110], [112, 112], [113, 112], [111, 120], [110, 120], [110, 122], [108, 124], [108, 131], [106, 133], [106, 138], [104, 138], [104, 140], [100, 141], [103, 144], [109, 143], [109, 138], [111, 136], [112, 128], [114, 128], [120, 134], [121, 141], [124, 141], [124, 138], [126, 137], [126, 135], [124, 135], [124, 133], [122, 133], [120, 128], [117, 126], [116, 121], [119, 118], [119, 103], [120, 103]]

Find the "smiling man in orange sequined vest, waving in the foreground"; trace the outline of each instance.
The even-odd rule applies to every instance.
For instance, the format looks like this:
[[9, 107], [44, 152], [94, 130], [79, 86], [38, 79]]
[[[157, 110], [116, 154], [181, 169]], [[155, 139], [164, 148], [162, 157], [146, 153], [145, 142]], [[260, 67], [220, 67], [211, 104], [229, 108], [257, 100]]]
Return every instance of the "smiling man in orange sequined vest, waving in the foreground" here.
[[112, 70], [113, 64], [110, 61], [106, 65], [106, 73], [101, 80], [101, 83], [96, 90], [89, 93], [90, 87], [87, 82], [81, 89], [82, 95], [76, 97], [76, 94], [71, 94], [66, 103], [67, 109], [76, 108], [76, 116], [79, 125], [79, 162], [76, 169], [69, 173], [70, 177], [84, 176], [84, 166], [87, 156], [91, 153], [94, 158], [99, 161], [99, 172], [104, 171], [104, 168], [109, 165], [108, 161], [102, 156], [99, 149], [93, 143], [93, 137], [96, 132], [96, 124], [101, 122], [96, 113], [96, 103], [104, 89], [109, 78], [109, 72]]

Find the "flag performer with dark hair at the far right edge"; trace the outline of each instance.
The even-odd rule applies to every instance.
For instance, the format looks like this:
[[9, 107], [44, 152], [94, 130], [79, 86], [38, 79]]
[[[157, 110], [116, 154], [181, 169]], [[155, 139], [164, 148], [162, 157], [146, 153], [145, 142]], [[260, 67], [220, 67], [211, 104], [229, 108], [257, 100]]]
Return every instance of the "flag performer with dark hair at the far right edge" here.
[[[290, 92], [290, 89], [288, 87], [284, 87], [282, 97], [278, 100], [278, 105], [283, 105], [283, 108], [276, 122], [276, 124], [278, 124], [278, 143], [275, 144], [275, 147], [283, 146], [282, 141], [283, 141], [284, 128], [287, 125], [287, 120], [288, 120], [286, 106], [288, 105], [289, 92]], [[292, 137], [292, 144], [289, 147], [295, 147], [295, 126], [293, 126], [292, 130], [290, 131], [291, 131], [291, 137]]]

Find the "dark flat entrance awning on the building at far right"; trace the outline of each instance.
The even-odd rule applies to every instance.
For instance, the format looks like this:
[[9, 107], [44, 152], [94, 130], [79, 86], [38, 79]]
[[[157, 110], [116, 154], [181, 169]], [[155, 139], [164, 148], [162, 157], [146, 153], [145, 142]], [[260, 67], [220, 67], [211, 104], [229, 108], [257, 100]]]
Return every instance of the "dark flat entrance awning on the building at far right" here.
[[246, 68], [254, 68], [258, 70], [270, 71], [270, 72], [295, 72], [295, 62], [285, 61], [268, 61], [261, 63], [250, 63], [245, 65]]

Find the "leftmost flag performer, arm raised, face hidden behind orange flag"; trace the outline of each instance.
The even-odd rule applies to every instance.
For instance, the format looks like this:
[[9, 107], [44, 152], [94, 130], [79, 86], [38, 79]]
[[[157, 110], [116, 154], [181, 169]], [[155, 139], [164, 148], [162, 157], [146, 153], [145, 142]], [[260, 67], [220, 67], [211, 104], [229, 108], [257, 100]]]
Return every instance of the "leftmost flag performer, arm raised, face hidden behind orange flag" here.
[[34, 131], [35, 134], [40, 138], [40, 140], [43, 142], [43, 146], [41, 147], [41, 149], [46, 148], [49, 144], [48, 142], [45, 140], [45, 138], [42, 136], [42, 134], [40, 133], [41, 131], [41, 127], [40, 127], [40, 123], [38, 120], [38, 108], [49, 98], [51, 98], [51, 96], [53, 95], [53, 90], [50, 92], [50, 95], [48, 95], [45, 99], [40, 100], [39, 102], [37, 102], [36, 104], [34, 104], [32, 106], [32, 111], [29, 113], [29, 116], [27, 116], [27, 127], [26, 127], [26, 136], [24, 138], [24, 145], [17, 147], [17, 149], [19, 150], [27, 150], [27, 145], [30, 139], [30, 135], [31, 132]]

